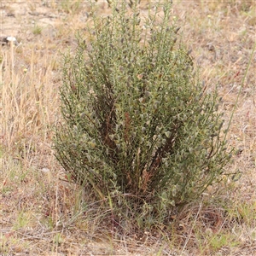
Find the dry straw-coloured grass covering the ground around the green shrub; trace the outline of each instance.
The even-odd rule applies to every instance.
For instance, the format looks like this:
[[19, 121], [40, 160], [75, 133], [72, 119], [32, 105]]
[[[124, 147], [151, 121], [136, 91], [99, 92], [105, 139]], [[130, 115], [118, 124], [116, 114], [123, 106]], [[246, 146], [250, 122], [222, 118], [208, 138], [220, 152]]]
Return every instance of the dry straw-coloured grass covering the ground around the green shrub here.
[[[100, 2], [100, 1], [99, 1]], [[65, 183], [51, 148], [60, 118], [61, 60], [90, 22], [86, 2], [1, 2], [1, 33], [22, 44], [0, 46], [0, 254], [254, 255], [256, 251], [256, 6], [253, 1], [178, 1], [173, 16], [193, 49], [206, 85], [218, 84], [236, 183], [211, 189], [174, 216], [162, 236], [101, 239], [104, 212], [90, 214], [83, 191]], [[142, 0], [142, 5], [148, 3]], [[99, 3], [99, 12], [108, 12]], [[244, 83], [242, 80], [248, 72]], [[241, 88], [242, 85], [242, 88]], [[118, 254], [119, 253], [119, 254]]]

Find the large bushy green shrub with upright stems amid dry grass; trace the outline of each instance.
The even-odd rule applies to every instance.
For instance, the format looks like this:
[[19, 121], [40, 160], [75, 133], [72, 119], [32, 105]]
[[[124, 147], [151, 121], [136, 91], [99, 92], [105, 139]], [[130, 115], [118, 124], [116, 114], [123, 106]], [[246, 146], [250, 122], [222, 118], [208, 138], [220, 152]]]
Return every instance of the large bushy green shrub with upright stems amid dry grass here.
[[56, 157], [92, 201], [137, 224], [198, 199], [231, 153], [217, 92], [197, 79], [163, 2], [144, 16], [137, 3], [113, 2], [63, 67]]

